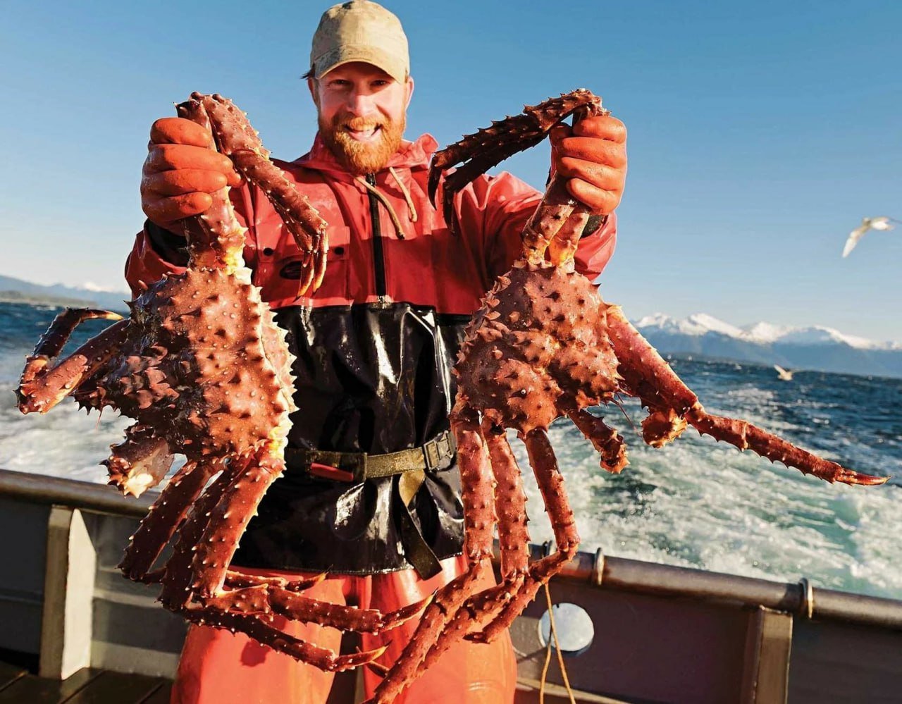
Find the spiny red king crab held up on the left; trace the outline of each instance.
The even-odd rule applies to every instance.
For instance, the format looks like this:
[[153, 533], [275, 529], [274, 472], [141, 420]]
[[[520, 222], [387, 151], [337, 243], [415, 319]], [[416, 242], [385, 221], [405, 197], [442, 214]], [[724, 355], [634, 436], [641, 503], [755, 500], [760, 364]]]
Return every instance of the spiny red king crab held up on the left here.
[[[178, 112], [206, 126], [210, 146], [267, 193], [307, 253], [301, 292], [315, 290], [326, 268], [326, 222], [269, 161], [244, 113], [223, 97], [198, 93]], [[161, 583], [163, 604], [192, 622], [242, 631], [323, 670], [353, 668], [384, 648], [337, 655], [282, 634], [273, 616], [378, 632], [424, 604], [391, 614], [343, 607], [303, 595], [321, 576], [290, 581], [230, 569], [245, 526], [284, 469], [289, 413], [296, 410], [294, 357], [244, 266], [244, 228], [228, 190], [213, 196], [206, 213], [184, 221], [187, 271], [151, 283], [129, 303], [128, 319], [105, 310], [60, 313], [26, 361], [19, 408], [48, 412], [71, 394], [82, 406], [110, 406], [135, 419], [105, 462], [110, 484], [126, 495], [160, 482], [173, 453], [186, 456], [132, 536], [120, 565], [126, 576]], [[78, 323], [93, 318], [118, 322], [55, 361]], [[176, 534], [170, 559], [154, 570]]]

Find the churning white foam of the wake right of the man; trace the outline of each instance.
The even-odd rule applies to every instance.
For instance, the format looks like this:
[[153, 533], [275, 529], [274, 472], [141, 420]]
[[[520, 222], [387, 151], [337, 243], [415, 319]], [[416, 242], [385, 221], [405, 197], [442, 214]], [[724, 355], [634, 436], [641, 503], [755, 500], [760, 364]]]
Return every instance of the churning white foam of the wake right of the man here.
[[[630, 466], [613, 477], [552, 428], [584, 550], [902, 598], [899, 487], [830, 486], [690, 433], [659, 450], [628, 437]], [[529, 474], [530, 533], [551, 540]]]

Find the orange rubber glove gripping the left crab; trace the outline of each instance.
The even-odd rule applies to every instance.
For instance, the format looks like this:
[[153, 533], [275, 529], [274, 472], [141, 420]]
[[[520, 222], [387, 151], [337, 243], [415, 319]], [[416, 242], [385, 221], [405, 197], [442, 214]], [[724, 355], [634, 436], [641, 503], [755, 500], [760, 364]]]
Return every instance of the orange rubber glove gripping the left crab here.
[[211, 144], [208, 130], [182, 117], [153, 123], [141, 176], [141, 209], [152, 223], [171, 230], [207, 210], [210, 193], [241, 184], [232, 162]]

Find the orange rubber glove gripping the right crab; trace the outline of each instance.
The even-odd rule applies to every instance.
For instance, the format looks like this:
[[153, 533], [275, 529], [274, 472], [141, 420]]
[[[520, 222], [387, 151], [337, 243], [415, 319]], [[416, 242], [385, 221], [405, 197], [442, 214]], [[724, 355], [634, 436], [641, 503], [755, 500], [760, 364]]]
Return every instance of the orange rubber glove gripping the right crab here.
[[594, 215], [620, 205], [626, 181], [626, 127], [610, 115], [557, 125], [549, 134], [551, 171], [566, 176], [566, 188]]

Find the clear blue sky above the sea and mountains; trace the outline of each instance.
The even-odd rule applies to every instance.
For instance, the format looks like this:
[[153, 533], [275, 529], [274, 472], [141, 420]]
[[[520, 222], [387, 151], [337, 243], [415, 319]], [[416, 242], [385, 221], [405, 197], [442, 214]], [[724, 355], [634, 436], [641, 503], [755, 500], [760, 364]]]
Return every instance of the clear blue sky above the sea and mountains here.
[[[327, 4], [0, 0], [0, 273], [124, 289], [149, 127], [232, 97], [275, 155], [308, 151]], [[637, 320], [823, 325], [902, 341], [902, 3], [462, 0], [385, 5], [410, 38], [407, 136], [439, 144], [590, 88], [630, 169], [601, 292]], [[562, 9], [563, 8], [563, 9]], [[548, 144], [502, 168], [541, 187]]]

